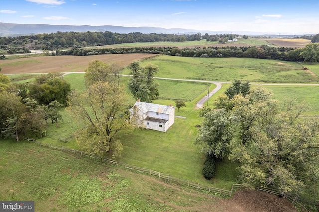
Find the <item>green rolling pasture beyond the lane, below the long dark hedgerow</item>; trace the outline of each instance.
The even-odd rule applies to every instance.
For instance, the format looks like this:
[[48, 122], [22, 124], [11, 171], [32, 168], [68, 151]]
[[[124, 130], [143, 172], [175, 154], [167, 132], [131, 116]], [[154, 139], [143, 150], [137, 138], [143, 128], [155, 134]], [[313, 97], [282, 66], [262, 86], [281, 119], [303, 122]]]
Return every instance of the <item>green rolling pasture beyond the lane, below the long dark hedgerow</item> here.
[[[232, 82], [318, 83], [318, 75], [303, 70], [303, 63], [254, 58], [189, 58], [161, 55], [144, 60], [159, 66], [156, 77]], [[124, 74], [129, 70], [124, 69]]]

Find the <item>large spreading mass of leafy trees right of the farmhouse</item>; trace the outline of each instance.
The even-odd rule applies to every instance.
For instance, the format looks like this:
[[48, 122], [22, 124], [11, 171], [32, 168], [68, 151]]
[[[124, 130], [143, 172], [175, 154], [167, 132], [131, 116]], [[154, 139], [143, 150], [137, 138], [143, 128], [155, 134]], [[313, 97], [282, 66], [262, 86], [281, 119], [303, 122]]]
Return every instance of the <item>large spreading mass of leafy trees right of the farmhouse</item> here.
[[240, 162], [243, 183], [272, 186], [283, 194], [318, 182], [319, 118], [298, 118], [305, 103], [279, 103], [261, 86], [230, 101], [228, 112], [221, 108], [205, 114], [196, 139], [205, 153], [228, 155]]

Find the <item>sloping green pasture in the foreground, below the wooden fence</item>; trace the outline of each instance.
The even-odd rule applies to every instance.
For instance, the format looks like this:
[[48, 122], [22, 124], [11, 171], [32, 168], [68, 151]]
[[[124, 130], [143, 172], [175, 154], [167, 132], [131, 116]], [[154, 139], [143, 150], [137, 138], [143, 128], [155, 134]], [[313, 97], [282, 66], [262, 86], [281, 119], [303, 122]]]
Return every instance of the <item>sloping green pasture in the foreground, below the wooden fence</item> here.
[[36, 212], [187, 212], [217, 204], [189, 187], [27, 141], [0, 141], [0, 182], [1, 200], [33, 200]]

